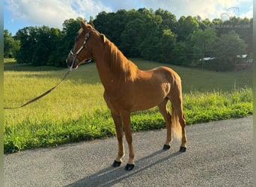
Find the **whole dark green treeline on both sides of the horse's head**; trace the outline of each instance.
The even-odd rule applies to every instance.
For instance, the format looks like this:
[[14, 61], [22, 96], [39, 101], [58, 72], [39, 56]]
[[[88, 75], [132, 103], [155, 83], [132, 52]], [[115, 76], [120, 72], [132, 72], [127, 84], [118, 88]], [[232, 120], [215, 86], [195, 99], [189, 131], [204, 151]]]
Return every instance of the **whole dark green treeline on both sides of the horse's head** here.
[[[4, 42], [4, 56], [13, 55], [18, 63], [65, 66], [81, 20], [65, 20], [62, 31], [48, 26], [26, 27], [13, 37], [4, 31], [4, 41], [11, 37], [16, 45], [7, 52]], [[237, 55], [252, 55], [252, 19], [181, 16], [177, 20], [168, 10], [140, 8], [103, 11], [91, 21], [128, 58], [231, 70], [239, 62]], [[212, 60], [204, 61], [205, 57]]]

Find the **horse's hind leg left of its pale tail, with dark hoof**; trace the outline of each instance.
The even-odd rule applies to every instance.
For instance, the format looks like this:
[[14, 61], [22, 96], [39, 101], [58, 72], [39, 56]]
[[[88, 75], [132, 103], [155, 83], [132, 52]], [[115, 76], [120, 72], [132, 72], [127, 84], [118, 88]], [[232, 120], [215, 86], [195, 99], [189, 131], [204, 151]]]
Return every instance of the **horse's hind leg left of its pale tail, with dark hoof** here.
[[164, 147], [162, 148], [163, 150], [168, 150], [171, 147], [171, 114], [168, 111], [167, 102], [168, 102], [168, 98], [165, 98], [158, 105], [159, 111], [164, 117], [165, 124], [166, 124], [166, 140], [165, 140]]

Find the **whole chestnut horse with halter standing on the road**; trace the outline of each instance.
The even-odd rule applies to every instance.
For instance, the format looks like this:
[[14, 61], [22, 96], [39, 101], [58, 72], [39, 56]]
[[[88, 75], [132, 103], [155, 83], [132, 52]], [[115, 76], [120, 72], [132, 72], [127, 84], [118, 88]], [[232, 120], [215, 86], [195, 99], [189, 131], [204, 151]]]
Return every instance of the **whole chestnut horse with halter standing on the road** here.
[[[121, 165], [124, 157], [123, 128], [129, 147], [129, 161], [126, 170], [134, 167], [135, 154], [132, 148], [132, 130], [130, 114], [154, 106], [165, 119], [167, 136], [163, 149], [171, 146], [171, 132], [181, 138], [180, 152], [186, 152], [186, 120], [183, 115], [180, 76], [168, 67], [156, 67], [153, 70], [139, 70], [123, 53], [94, 29], [90, 22], [81, 22], [76, 42], [67, 56], [67, 67], [76, 69], [88, 59], [94, 59], [100, 80], [105, 89], [104, 99], [115, 123], [118, 138], [118, 156], [112, 164]], [[171, 114], [167, 108], [171, 101]]]

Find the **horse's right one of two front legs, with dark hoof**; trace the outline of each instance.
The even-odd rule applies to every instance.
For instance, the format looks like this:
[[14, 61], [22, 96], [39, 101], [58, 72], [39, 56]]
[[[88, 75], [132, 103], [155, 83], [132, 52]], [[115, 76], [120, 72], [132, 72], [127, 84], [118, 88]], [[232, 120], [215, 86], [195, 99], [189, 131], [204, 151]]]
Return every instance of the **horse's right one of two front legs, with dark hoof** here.
[[125, 138], [127, 139], [127, 144], [129, 148], [129, 161], [125, 167], [127, 171], [131, 171], [134, 168], [134, 152], [132, 147], [132, 129], [131, 129], [131, 120], [130, 112], [123, 111], [121, 112], [121, 120], [124, 126]]

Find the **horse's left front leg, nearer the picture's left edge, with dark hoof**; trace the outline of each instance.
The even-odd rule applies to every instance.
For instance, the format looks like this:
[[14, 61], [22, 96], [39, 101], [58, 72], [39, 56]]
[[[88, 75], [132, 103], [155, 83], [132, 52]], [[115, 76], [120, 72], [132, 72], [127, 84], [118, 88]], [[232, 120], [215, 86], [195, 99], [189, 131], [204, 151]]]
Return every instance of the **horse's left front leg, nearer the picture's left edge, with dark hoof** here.
[[117, 133], [117, 138], [118, 138], [118, 156], [113, 162], [112, 166], [118, 167], [123, 162], [122, 158], [124, 157], [123, 128], [122, 128], [121, 117], [119, 115], [112, 113], [112, 118], [115, 123], [115, 131]]

